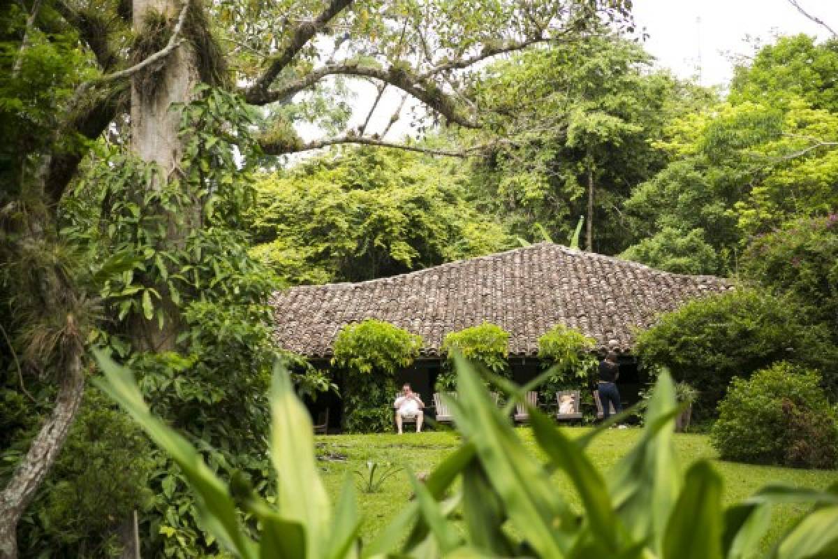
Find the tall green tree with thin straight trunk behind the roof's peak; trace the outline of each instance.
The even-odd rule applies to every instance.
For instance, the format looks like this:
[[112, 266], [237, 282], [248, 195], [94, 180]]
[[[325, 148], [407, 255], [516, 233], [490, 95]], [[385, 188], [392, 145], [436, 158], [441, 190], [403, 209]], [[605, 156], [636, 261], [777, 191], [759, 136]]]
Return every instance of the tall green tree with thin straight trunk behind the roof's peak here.
[[499, 113], [489, 128], [525, 132], [474, 163], [481, 204], [527, 239], [541, 239], [543, 226], [566, 242], [584, 216], [592, 238], [586, 232], [581, 246], [621, 251], [623, 200], [666, 163], [652, 140], [671, 118], [711, 98], [652, 70], [651, 61], [639, 44], [603, 36], [491, 66], [474, 85]]

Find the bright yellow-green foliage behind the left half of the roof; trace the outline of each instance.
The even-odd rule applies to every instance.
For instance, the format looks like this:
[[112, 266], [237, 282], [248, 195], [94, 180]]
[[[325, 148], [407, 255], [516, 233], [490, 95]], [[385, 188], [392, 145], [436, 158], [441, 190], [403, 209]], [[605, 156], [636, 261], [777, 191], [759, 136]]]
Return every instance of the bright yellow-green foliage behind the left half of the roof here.
[[252, 254], [291, 284], [359, 282], [510, 246], [463, 174], [413, 153], [347, 150], [262, 175]]

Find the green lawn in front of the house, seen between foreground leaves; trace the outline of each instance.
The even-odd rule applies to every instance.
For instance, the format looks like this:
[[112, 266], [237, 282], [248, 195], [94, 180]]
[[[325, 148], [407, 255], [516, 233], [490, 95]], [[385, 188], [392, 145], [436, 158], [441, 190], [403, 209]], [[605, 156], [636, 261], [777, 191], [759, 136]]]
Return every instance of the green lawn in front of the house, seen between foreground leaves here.
[[[521, 437], [533, 448], [532, 434], [529, 429], [518, 430]], [[573, 436], [584, 432], [583, 427], [570, 427], [567, 432]], [[612, 429], [605, 432], [592, 444], [589, 454], [601, 471], [608, 473], [613, 465], [639, 437], [637, 428]], [[408, 432], [404, 435], [331, 435], [316, 437], [318, 454], [321, 457], [332, 455], [345, 456], [345, 461], [323, 459], [319, 462], [323, 468], [323, 477], [330, 496], [337, 499], [340, 486], [345, 476], [355, 470], [366, 468], [368, 460], [376, 463], [394, 463], [411, 468], [414, 472], [430, 471], [443, 457], [458, 446], [458, 435], [454, 432]], [[773, 468], [768, 466], [750, 466], [740, 463], [723, 462], [716, 459], [716, 453], [710, 446], [706, 435], [676, 434], [675, 446], [680, 458], [680, 466], [685, 468], [697, 458], [712, 458], [716, 468], [725, 480], [726, 504], [745, 499], [748, 495], [769, 482], [783, 482], [799, 486], [824, 489], [836, 479], [835, 471], [804, 470], [792, 468]], [[357, 478], [357, 476], [355, 476]], [[561, 475], [556, 476], [556, 490], [567, 495], [567, 499], [578, 505], [576, 495], [566, 484]], [[401, 510], [411, 496], [411, 489], [404, 473], [399, 473], [385, 481], [380, 493], [364, 494], [359, 492], [359, 506], [365, 516], [362, 535], [365, 540], [385, 525], [391, 516]], [[805, 507], [784, 505], [775, 509], [773, 528], [769, 538], [777, 536], [791, 520]]]

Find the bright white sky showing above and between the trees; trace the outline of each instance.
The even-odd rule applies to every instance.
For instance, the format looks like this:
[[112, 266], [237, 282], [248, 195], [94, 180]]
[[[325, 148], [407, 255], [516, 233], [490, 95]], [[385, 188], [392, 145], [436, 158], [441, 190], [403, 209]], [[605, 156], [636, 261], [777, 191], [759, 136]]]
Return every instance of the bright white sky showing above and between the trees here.
[[[798, 0], [807, 13], [820, 18], [838, 30], [838, 0]], [[634, 20], [638, 29], [649, 37], [644, 46], [657, 60], [660, 68], [668, 68], [680, 78], [696, 78], [701, 85], [721, 85], [732, 78], [732, 55], [753, 54], [755, 41], [773, 42], [776, 35], [805, 33], [819, 39], [827, 31], [799, 13], [789, 0], [634, 0]], [[363, 122], [375, 99], [375, 87], [353, 85], [354, 117], [350, 126]], [[401, 101], [401, 94], [388, 88], [367, 128], [380, 132]], [[414, 104], [415, 105], [415, 104]], [[406, 135], [411, 130], [411, 104], [406, 104], [402, 117], [391, 127], [388, 140]], [[322, 136], [317, 127], [299, 127], [305, 140]]]

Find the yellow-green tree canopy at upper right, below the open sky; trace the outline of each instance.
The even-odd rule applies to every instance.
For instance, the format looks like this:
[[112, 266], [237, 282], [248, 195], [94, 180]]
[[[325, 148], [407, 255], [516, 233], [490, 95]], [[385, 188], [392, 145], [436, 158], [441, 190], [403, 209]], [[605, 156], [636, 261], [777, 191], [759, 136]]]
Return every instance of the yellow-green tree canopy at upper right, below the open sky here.
[[730, 274], [752, 236], [838, 207], [835, 39], [781, 37], [737, 67], [723, 103], [667, 124], [670, 163], [625, 202], [623, 254], [673, 272]]

